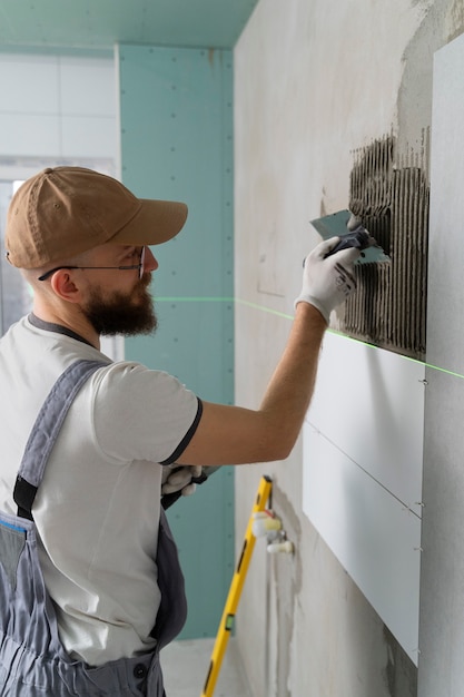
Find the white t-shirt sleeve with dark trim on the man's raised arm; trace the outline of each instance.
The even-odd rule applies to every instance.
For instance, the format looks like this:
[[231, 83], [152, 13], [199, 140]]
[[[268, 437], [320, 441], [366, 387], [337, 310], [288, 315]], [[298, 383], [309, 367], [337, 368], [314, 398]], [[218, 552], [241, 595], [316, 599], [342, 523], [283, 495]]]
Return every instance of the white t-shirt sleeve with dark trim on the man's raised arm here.
[[176, 377], [138, 363], [103, 369], [95, 387], [96, 440], [118, 461], [175, 462], [201, 418], [201, 401], [194, 392]]

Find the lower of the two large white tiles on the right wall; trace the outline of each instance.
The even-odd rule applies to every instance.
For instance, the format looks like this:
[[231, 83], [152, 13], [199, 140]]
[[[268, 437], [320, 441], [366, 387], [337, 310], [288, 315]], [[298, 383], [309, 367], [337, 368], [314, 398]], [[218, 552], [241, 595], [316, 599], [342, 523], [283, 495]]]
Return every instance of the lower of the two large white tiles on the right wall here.
[[304, 512], [417, 665], [421, 519], [304, 424]]

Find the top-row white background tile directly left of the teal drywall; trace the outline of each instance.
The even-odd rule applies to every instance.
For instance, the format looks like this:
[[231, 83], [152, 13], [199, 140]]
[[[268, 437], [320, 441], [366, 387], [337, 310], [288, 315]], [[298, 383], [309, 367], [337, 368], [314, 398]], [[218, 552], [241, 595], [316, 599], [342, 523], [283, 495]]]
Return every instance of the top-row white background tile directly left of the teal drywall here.
[[[60, 108], [63, 115], [116, 115], [112, 59], [60, 57]], [[89, 79], [90, 78], [90, 79]]]

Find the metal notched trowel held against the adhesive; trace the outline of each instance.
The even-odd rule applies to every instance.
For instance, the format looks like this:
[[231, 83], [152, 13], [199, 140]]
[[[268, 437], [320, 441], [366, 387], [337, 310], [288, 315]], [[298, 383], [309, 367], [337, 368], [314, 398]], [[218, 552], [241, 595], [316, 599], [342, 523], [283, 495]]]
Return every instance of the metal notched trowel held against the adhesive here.
[[356, 264], [372, 264], [373, 262], [389, 262], [391, 258], [379, 244], [371, 237], [369, 232], [361, 224], [359, 218], [349, 210], [338, 210], [323, 218], [310, 220], [310, 224], [319, 233], [323, 239], [339, 237], [338, 244], [329, 252], [335, 254], [339, 249], [356, 247], [362, 252]]

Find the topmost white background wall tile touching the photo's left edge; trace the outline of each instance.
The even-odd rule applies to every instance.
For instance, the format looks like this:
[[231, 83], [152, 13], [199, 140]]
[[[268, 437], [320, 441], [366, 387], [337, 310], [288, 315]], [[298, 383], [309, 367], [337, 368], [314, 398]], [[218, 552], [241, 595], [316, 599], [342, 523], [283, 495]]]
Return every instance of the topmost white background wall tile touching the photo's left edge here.
[[0, 115], [58, 112], [56, 57], [0, 53]]

